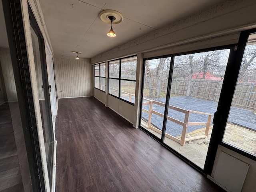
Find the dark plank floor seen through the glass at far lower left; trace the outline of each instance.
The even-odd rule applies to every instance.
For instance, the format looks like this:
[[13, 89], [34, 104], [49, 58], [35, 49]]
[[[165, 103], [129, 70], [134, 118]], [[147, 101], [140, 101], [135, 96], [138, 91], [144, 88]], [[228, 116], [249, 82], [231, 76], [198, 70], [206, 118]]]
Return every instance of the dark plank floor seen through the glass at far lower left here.
[[0, 105], [0, 192], [22, 192], [23, 184], [8, 102]]

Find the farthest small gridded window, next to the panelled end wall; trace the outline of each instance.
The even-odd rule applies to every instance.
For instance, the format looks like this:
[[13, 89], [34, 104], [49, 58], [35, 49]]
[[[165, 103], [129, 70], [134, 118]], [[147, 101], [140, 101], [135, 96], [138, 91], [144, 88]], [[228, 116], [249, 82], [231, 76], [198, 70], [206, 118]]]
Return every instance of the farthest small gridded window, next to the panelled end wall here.
[[94, 87], [106, 91], [106, 64], [94, 65]]

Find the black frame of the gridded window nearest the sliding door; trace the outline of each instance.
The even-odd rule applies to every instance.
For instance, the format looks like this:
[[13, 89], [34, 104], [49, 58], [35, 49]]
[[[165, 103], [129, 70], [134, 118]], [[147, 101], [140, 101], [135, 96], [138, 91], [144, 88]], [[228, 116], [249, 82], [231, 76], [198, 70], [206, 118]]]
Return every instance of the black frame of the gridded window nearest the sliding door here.
[[[136, 58], [137, 58], [137, 55], [132, 55], [132, 56], [128, 56], [128, 57], [124, 57], [124, 58], [119, 58], [119, 59], [113, 59], [113, 60], [108, 61], [108, 94], [111, 95], [111, 96], [113, 96], [113, 97], [115, 97], [115, 98], [118, 98], [118, 99], [120, 99], [120, 100], [122, 100], [122, 101], [124, 101], [124, 102], [126, 102], [126, 103], [131, 104], [131, 105], [134, 106], [135, 102], [132, 103], [132, 102], [130, 102], [130, 101], [128, 101], [128, 100], [125, 100], [125, 99], [123, 99], [123, 98], [120, 97], [120, 96], [121, 96], [121, 81], [135, 82], [135, 89], [136, 89], [136, 78], [135, 78], [135, 80], [121, 78], [122, 59], [127, 59], [127, 58], [132, 58], [132, 57], [136, 57]], [[109, 68], [110, 68], [110, 62], [112, 62], [112, 61], [118, 61], [118, 60], [119, 60], [119, 76], [118, 76], [118, 78], [110, 77], [110, 75], [109, 75], [109, 72], [110, 72], [110, 70], [109, 70]], [[137, 61], [136, 61], [136, 67], [137, 67]], [[109, 88], [110, 88], [110, 87], [109, 87], [109, 85], [110, 85], [110, 84], [109, 84], [109, 81], [110, 81], [111, 79], [113, 79], [113, 80], [118, 80], [118, 86], [119, 86], [119, 87], [118, 87], [118, 96], [115, 96], [115, 95], [113, 95], [113, 94], [111, 94], [111, 93], [109, 92]]]

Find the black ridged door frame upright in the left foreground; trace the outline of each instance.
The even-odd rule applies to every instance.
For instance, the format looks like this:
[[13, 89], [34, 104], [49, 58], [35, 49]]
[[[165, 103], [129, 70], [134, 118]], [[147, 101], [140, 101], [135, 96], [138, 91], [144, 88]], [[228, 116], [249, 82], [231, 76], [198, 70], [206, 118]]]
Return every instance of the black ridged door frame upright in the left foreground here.
[[45, 183], [20, 1], [2, 0], [33, 191]]

